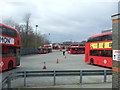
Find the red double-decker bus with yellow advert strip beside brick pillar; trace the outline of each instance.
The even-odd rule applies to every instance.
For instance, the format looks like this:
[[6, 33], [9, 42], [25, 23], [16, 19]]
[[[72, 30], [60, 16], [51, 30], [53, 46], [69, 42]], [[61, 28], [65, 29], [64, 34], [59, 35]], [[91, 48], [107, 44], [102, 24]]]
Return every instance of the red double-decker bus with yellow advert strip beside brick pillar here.
[[112, 32], [88, 38], [85, 47], [84, 62], [112, 67]]

